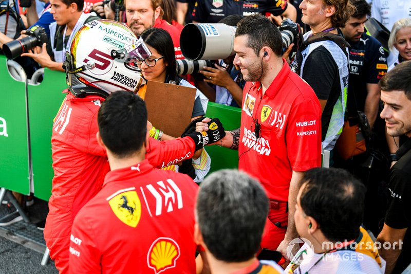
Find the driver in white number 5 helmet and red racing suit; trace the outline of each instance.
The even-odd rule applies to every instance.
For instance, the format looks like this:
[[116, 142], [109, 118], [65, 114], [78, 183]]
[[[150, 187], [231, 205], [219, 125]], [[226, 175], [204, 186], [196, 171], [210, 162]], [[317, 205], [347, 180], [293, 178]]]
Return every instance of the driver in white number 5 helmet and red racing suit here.
[[[90, 47], [91, 44], [95, 46]], [[127, 26], [110, 20], [85, 24], [71, 45], [64, 63], [69, 90], [65, 90], [67, 96], [55, 117], [51, 137], [54, 178], [44, 230], [50, 257], [60, 273], [68, 272], [73, 219], [100, 191], [109, 171], [106, 152], [96, 139], [98, 110], [111, 92], [138, 90], [143, 80], [127, 61], [135, 63], [136, 58], [144, 57], [146, 47]], [[115, 77], [119, 74], [131, 79], [134, 85], [119, 81]], [[204, 143], [225, 135], [220, 132], [223, 129], [218, 121], [216, 126], [215, 135], [192, 133], [189, 137], [165, 142], [150, 138], [146, 158], [155, 168], [190, 158]]]

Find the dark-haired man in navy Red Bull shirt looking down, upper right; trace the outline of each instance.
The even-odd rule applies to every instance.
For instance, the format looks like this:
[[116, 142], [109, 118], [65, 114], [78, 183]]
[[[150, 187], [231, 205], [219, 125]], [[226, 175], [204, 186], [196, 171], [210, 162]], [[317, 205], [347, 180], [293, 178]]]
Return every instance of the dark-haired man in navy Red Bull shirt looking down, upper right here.
[[356, 11], [341, 28], [345, 40], [351, 45], [348, 48], [350, 75], [347, 100], [355, 99], [357, 109], [365, 113], [372, 128], [380, 102], [378, 82], [387, 73], [387, 61], [381, 43], [364, 31], [371, 6], [365, 0], [350, 2]]

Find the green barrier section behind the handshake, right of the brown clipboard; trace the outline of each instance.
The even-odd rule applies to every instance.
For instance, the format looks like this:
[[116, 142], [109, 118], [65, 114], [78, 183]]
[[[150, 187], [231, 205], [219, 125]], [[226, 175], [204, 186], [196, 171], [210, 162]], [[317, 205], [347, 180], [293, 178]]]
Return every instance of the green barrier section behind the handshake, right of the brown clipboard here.
[[[240, 127], [241, 109], [209, 102], [206, 117], [220, 119], [225, 130], [235, 130]], [[209, 174], [219, 169], [238, 169], [238, 151], [216, 145], [206, 147], [206, 150], [211, 157]]]

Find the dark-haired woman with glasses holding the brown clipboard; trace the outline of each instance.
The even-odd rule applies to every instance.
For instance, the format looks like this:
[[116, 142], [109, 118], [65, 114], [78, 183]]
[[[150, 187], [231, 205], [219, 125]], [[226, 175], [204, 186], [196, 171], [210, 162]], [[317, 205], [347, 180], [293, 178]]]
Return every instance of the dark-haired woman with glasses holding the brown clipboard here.
[[[141, 37], [143, 38], [148, 49], [152, 52], [151, 57], [146, 58], [144, 61], [137, 62], [137, 65], [141, 69], [141, 73], [145, 80], [162, 83], [170, 83], [170, 81], [174, 81], [177, 85], [194, 87], [192, 84], [184, 79], [181, 79], [177, 75], [173, 40], [167, 31], [159, 28], [149, 28], [141, 33]], [[142, 99], [145, 97], [146, 86], [147, 85], [142, 86], [138, 91], [138, 95]], [[191, 115], [192, 121], [206, 114], [207, 103], [207, 97], [197, 89], [193, 113]], [[154, 135], [152, 137], [158, 140], [173, 138], [165, 134], [163, 135], [161, 131], [156, 129], [155, 131], [152, 130], [150, 134]], [[205, 165], [203, 164], [204, 162], [206, 162]], [[194, 181], [201, 182], [209, 172], [210, 166], [210, 156], [205, 150], [199, 150], [193, 156], [192, 165], [190, 161], [183, 161], [182, 165], [179, 166], [178, 169], [179, 172], [190, 175]]]

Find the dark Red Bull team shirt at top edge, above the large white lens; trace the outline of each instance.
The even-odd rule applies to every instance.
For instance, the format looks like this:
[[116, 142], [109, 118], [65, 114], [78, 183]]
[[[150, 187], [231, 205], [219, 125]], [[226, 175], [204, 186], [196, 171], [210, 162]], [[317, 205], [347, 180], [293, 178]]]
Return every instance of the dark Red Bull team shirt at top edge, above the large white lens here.
[[248, 16], [256, 13], [282, 14], [287, 8], [285, 0], [197, 0], [193, 11], [193, 21], [217, 23], [232, 14]]

